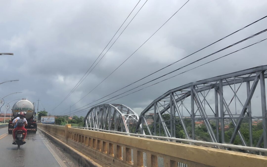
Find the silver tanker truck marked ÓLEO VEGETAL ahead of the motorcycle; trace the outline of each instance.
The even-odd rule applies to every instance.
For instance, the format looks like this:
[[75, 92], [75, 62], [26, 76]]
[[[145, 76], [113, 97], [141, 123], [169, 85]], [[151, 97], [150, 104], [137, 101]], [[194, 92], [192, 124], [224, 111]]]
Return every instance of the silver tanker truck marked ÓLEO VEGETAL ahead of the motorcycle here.
[[9, 121], [8, 124], [8, 133], [12, 134], [12, 131], [14, 129], [14, 126], [12, 126], [12, 122], [14, 118], [16, 118], [17, 112], [26, 112], [25, 118], [28, 122], [28, 126], [25, 127], [27, 129], [27, 132], [36, 133], [37, 131], [37, 123], [34, 120], [35, 116], [35, 107], [32, 102], [30, 102], [27, 99], [21, 99], [18, 102], [16, 102], [12, 108], [13, 113], [13, 119]]

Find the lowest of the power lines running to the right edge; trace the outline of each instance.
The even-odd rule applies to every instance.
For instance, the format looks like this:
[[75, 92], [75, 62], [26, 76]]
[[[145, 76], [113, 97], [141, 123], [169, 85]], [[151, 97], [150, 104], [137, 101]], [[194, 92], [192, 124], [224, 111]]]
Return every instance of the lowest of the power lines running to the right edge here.
[[[168, 80], [168, 79], [171, 79], [171, 78], [173, 78], [173, 77], [175, 77], [175, 76], [178, 76], [178, 75], [180, 75], [180, 74], [186, 73], [186, 72], [188, 72], [188, 71], [191, 71], [191, 70], [193, 70], [193, 69], [195, 69], [195, 68], [198, 68], [198, 67], [201, 67], [201, 66], [203, 66], [203, 65], [206, 65], [206, 64], [208, 64], [208, 63], [211, 63], [211, 62], [213, 62], [213, 61], [216, 61], [216, 60], [221, 59], [221, 58], [223, 58], [223, 57], [226, 57], [226, 56], [228, 56], [228, 55], [231, 55], [231, 54], [233, 54], [233, 53], [235, 53], [235, 52], [241, 51], [241, 50], [243, 50], [243, 49], [245, 49], [245, 48], [248, 48], [248, 47], [250, 47], [250, 46], [253, 46], [253, 45], [258, 44], [258, 43], [260, 43], [260, 42], [262, 42], [262, 41], [265, 41], [265, 40], [267, 40], [267, 38], [265, 38], [264, 40], [261, 40], [261, 41], [259, 41], [259, 42], [255, 42], [254, 44], [248, 45], [248, 46], [246, 46], [246, 47], [244, 47], [244, 48], [238, 49], [238, 50], [236, 50], [236, 51], [234, 51], [234, 52], [231, 52], [231, 53], [229, 53], [229, 54], [227, 54], [227, 55], [221, 56], [221, 57], [219, 57], [219, 58], [217, 58], [217, 59], [211, 60], [211, 61], [209, 61], [209, 62], [207, 62], [207, 63], [201, 64], [201, 65], [199, 65], [199, 66], [197, 66], [197, 67], [191, 68], [191, 69], [189, 69], [189, 70], [187, 70], [187, 71], [184, 71], [184, 72], [179, 73], [179, 74], [177, 74], [177, 75], [174, 75], [174, 76], [172, 76], [172, 77], [169, 77], [169, 78], [167, 78], [167, 79], [164, 79], [164, 80], [162, 80], [162, 81], [159, 81], [159, 82], [157, 82], [157, 83], [154, 83], [154, 84], [152, 84], [152, 85], [150, 85], [150, 86], [141, 88], [141, 89], [139, 89], [139, 90], [137, 90], [137, 91], [134, 91], [134, 92], [129, 93], [129, 94], [127, 94], [127, 95], [121, 96], [121, 97], [119, 97], [119, 98], [117, 98], [117, 99], [120, 99], [120, 98], [123, 98], [123, 97], [125, 97], [125, 96], [131, 95], [131, 94], [133, 94], [133, 93], [135, 93], [135, 92], [138, 92], [138, 91], [141, 91], [141, 90], [143, 90], [143, 89], [145, 89], [145, 88], [154, 86], [154, 85], [156, 85], [156, 84], [158, 84], [158, 83], [161, 83], [161, 82], [166, 81], [166, 80]], [[114, 97], [116, 97], [116, 96], [114, 96]], [[114, 97], [112, 97], [112, 98], [114, 98]], [[112, 99], [112, 98], [110, 98], [110, 99]], [[110, 100], [110, 99], [107, 99], [107, 100]], [[113, 100], [111, 100], [111, 101], [109, 101], [109, 102], [112, 102], [112, 101], [117, 100], [117, 99], [113, 99]], [[104, 100], [104, 101], [102, 101], [102, 102], [100, 102], [100, 103], [103, 103], [103, 102], [105, 102], [105, 101], [107, 101], [107, 100]], [[109, 102], [107, 102], [107, 103], [109, 103]], [[97, 103], [97, 104], [100, 104], [100, 103]], [[90, 107], [96, 106], [97, 104], [92, 105], [92, 106], [90, 106]], [[76, 111], [76, 112], [74, 112], [73, 114], [75, 114], [75, 113], [77, 113], [77, 112], [82, 112], [82, 111], [84, 111], [84, 110], [86, 110], [86, 109], [88, 109], [88, 108], [90, 108], [90, 107], [87, 107], [87, 108], [84, 108], [84, 109], [82, 109], [82, 110]]]

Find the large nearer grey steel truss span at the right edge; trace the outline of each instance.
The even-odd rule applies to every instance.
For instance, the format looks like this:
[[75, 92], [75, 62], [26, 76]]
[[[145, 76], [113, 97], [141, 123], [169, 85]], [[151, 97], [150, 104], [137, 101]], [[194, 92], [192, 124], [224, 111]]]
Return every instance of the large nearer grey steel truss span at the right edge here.
[[[172, 89], [145, 108], [135, 133], [221, 143], [234, 143], [238, 135], [244, 146], [253, 146], [253, 121], [258, 121], [263, 133], [257, 147], [263, 142], [267, 148], [266, 70], [264, 65]], [[248, 123], [249, 140], [239, 130], [243, 120]], [[199, 124], [206, 127], [209, 138], [198, 136]], [[178, 126], [184, 135], [176, 131]], [[234, 126], [233, 133], [227, 132], [229, 126]]]

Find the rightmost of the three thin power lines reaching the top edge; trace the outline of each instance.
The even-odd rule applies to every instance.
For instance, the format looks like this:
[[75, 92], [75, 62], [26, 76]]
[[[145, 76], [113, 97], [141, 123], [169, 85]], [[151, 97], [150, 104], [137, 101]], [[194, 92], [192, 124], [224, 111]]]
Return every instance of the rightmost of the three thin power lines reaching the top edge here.
[[[188, 1], [186, 1], [186, 3], [187, 2], [189, 2], [190, 0], [188, 0]], [[184, 5], [186, 5], [186, 3], [184, 3]], [[183, 6], [184, 6], [183, 5]], [[101, 81], [96, 87], [94, 87], [89, 93], [91, 93], [95, 88], [97, 88], [102, 82], [104, 82], [109, 76], [111, 76], [112, 75], [112, 73], [114, 73], [122, 64], [124, 64], [125, 63], [125, 61], [127, 61], [135, 52], [137, 52], [152, 36], [154, 36], [154, 34], [156, 33], [156, 32], [158, 32], [180, 9], [182, 9], [183, 8], [183, 6], [182, 7], [180, 7], [166, 22], [164, 22], [164, 24], [162, 25], [162, 26], [160, 26], [160, 28], [158, 29], [158, 30], [156, 30], [141, 46], [139, 46], [139, 48], [137, 48], [126, 60], [124, 60], [115, 70], [113, 70], [103, 81]], [[88, 93], [88, 94], [89, 94]], [[85, 96], [87, 96], [88, 94], [86, 94]], [[85, 96], [83, 97], [83, 98], [85, 98]], [[81, 98], [81, 99], [83, 99], [83, 98]], [[81, 100], [80, 99], [80, 100]], [[79, 101], [80, 101], [79, 100]], [[79, 102], [78, 101], [78, 102]], [[78, 102], [76, 102], [76, 103], [78, 103]], [[76, 104], [75, 103], [75, 104]], [[74, 105], [74, 104], [73, 104]], [[66, 111], [66, 110], [65, 110]]]

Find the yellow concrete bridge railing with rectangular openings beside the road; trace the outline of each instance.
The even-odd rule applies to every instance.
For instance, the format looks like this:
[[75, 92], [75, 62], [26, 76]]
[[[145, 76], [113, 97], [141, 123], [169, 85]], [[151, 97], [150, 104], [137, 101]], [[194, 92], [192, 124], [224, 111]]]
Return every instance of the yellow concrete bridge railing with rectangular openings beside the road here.
[[85, 130], [70, 125], [40, 124], [39, 127], [69, 146], [83, 150], [87, 156], [101, 158], [114, 166], [265, 166], [267, 162], [265, 156]]

